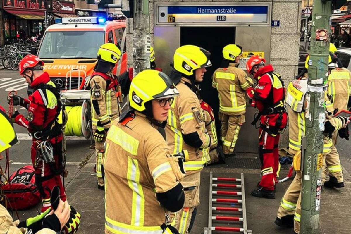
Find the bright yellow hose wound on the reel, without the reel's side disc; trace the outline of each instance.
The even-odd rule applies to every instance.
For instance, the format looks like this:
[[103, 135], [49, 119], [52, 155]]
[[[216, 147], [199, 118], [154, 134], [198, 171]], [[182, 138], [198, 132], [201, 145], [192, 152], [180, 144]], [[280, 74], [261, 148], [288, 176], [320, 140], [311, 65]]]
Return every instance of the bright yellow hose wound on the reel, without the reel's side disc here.
[[[82, 132], [82, 106], [66, 106], [67, 123], [66, 136], [83, 136]], [[62, 123], [62, 114], [59, 114], [59, 123]]]

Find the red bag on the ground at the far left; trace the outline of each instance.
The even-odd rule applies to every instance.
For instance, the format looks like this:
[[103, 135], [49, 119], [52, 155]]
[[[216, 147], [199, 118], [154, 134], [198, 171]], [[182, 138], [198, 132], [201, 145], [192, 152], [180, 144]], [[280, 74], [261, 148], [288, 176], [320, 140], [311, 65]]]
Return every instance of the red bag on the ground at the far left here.
[[[41, 198], [38, 187], [35, 185], [34, 168], [32, 165], [24, 166], [14, 172], [7, 183], [1, 185], [2, 193], [8, 198], [8, 209], [24, 210], [37, 205]], [[11, 192], [12, 190], [12, 192]]]

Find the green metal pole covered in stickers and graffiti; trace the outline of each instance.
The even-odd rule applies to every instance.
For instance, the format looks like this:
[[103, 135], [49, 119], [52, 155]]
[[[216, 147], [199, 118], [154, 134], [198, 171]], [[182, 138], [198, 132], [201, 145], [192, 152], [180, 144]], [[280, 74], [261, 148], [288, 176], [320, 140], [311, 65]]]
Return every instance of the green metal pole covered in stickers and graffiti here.
[[[331, 6], [331, 1], [313, 1], [308, 71], [308, 94], [311, 99], [309, 115], [306, 116], [306, 137], [303, 140], [306, 148], [303, 154], [301, 234], [318, 233], [325, 120], [324, 92], [329, 64], [329, 37], [323, 40], [324, 33], [319, 32], [326, 29], [330, 33]], [[321, 39], [316, 39], [316, 35]]]

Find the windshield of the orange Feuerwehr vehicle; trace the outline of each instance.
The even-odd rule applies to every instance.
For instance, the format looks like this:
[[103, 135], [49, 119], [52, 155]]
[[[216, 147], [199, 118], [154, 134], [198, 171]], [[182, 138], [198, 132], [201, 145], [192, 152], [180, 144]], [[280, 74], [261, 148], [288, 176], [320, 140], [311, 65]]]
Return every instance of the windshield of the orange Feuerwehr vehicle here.
[[104, 31], [46, 32], [38, 56], [41, 59], [96, 58], [104, 36]]

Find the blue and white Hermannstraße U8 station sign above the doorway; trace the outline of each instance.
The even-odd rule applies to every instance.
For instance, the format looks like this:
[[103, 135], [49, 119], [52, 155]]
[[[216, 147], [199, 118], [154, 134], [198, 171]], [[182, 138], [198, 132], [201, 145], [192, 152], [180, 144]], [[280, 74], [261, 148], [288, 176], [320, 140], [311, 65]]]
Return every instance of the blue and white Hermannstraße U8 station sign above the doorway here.
[[262, 5], [203, 5], [158, 6], [159, 23], [268, 23], [269, 6]]

